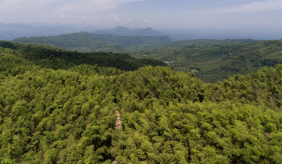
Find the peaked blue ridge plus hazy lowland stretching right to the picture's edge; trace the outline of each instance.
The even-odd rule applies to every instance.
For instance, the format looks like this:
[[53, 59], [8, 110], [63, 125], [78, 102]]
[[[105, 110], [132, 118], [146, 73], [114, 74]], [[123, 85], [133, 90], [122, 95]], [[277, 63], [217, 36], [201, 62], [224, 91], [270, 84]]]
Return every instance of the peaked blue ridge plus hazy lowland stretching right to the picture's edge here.
[[130, 29], [118, 26], [113, 29], [96, 30], [94, 33], [111, 35], [134, 35], [134, 36], [169, 36], [173, 41], [188, 39], [256, 39], [270, 40], [281, 39], [282, 34], [278, 31], [238, 31], [231, 29]]

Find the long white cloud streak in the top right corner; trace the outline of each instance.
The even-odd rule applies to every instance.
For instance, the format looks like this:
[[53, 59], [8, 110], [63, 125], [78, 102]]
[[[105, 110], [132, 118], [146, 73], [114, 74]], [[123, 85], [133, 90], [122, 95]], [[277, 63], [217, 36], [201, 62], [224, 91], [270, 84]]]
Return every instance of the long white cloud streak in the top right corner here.
[[213, 11], [213, 13], [244, 13], [244, 12], [258, 12], [267, 10], [282, 10], [281, 0], [256, 1], [251, 3], [244, 3], [236, 6], [231, 6], [228, 9]]

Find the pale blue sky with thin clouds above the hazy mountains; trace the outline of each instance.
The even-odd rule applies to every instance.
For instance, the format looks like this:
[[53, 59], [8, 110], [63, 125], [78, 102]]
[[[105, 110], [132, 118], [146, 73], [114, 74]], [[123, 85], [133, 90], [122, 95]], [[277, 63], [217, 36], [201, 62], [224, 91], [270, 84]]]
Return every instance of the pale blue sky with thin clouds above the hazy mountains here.
[[277, 30], [282, 0], [1, 0], [0, 23]]

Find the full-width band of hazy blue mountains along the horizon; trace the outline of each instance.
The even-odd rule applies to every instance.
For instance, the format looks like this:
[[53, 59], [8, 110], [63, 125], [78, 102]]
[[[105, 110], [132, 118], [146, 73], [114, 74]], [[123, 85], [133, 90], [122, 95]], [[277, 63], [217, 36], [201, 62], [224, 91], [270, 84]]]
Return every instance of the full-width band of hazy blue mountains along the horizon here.
[[[246, 31], [247, 30], [247, 31]], [[187, 39], [281, 39], [282, 33], [273, 30], [236, 31], [230, 29], [130, 29], [118, 26], [110, 29], [105, 26], [85, 24], [44, 24], [44, 23], [0, 23], [0, 40], [12, 40], [20, 37], [38, 37], [67, 33], [90, 32], [123, 36], [169, 36], [173, 41]]]

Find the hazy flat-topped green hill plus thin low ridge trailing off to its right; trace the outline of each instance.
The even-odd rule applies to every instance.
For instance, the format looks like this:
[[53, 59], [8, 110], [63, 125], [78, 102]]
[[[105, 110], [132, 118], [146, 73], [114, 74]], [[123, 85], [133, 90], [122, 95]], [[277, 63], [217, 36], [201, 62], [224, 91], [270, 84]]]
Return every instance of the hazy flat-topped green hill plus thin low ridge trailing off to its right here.
[[172, 42], [166, 36], [115, 36], [93, 33], [71, 33], [49, 37], [23, 37], [12, 42], [44, 44], [79, 52], [120, 52], [128, 54], [143, 53], [143, 51], [164, 47], [181, 47], [191, 44], [220, 44], [258, 42], [252, 39], [192, 39]]

